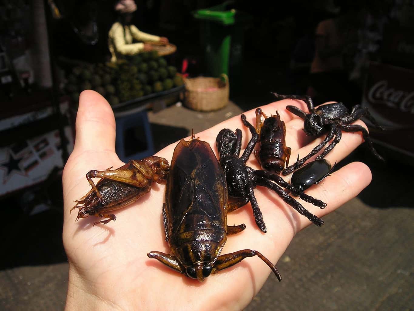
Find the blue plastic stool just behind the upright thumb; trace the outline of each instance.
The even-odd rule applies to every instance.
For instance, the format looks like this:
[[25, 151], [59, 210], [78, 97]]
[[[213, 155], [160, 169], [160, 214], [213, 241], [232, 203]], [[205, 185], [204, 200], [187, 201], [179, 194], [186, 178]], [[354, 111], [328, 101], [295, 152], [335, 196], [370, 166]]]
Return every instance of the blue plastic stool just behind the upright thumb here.
[[115, 149], [120, 160], [140, 160], [154, 155], [154, 142], [147, 111], [128, 111], [115, 114]]

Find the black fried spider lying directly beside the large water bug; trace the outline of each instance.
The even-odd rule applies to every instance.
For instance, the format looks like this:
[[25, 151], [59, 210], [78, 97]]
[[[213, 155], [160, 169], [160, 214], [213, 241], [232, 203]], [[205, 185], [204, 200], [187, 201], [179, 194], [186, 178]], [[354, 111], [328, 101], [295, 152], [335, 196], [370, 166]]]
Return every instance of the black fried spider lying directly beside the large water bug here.
[[281, 187], [286, 188], [304, 201], [312, 203], [320, 208], [326, 207], [326, 203], [301, 192], [296, 187], [285, 182], [279, 175], [269, 173], [265, 170], [253, 170], [253, 168], [246, 166], [246, 161], [258, 141], [258, 134], [253, 125], [246, 120], [244, 114], [241, 115], [241, 119], [243, 124], [249, 128], [252, 138], [248, 142], [246, 149], [240, 158], [242, 138], [240, 129], [236, 129], [236, 133], [231, 131], [231, 129], [222, 129], [216, 138], [216, 145], [220, 155], [220, 165], [226, 175], [229, 196], [237, 198], [240, 201], [245, 201], [246, 204], [250, 201], [256, 224], [263, 232], [266, 232], [266, 225], [263, 221], [262, 212], [259, 209], [258, 202], [253, 192], [257, 186], [264, 186], [273, 190], [284, 200], [284, 202], [296, 209], [296, 211], [303, 216], [306, 216], [315, 225], [321, 226], [323, 224], [322, 219], [310, 213]]

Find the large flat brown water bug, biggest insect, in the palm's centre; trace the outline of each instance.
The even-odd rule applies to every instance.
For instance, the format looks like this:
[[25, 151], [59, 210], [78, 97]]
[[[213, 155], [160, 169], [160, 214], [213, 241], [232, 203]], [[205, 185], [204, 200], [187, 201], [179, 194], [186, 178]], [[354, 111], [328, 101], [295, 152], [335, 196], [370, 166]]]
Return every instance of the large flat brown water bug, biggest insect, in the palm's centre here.
[[245, 202], [227, 204], [223, 170], [205, 141], [181, 140], [174, 149], [163, 206], [164, 230], [170, 254], [148, 253], [168, 267], [200, 282], [246, 257], [257, 255], [282, 279], [276, 267], [255, 250], [220, 255], [227, 235], [246, 225], [227, 226], [227, 213]]

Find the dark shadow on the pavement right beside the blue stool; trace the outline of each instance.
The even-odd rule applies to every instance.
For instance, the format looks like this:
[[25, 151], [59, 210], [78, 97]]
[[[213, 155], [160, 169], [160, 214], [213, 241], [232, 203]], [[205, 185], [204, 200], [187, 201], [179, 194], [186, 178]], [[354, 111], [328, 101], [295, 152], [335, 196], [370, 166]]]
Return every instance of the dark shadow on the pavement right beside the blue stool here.
[[181, 138], [190, 135], [188, 129], [184, 127], [168, 126], [163, 124], [151, 123], [152, 137], [154, 138], [155, 152], [165, 148], [170, 143], [174, 143]]

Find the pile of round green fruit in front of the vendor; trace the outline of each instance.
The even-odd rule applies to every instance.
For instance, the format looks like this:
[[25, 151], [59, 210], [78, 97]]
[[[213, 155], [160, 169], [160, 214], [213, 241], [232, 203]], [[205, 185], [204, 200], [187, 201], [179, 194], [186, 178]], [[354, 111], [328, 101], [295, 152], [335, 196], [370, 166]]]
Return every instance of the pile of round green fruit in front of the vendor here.
[[77, 66], [66, 78], [65, 90], [75, 102], [83, 90], [95, 90], [111, 105], [183, 85], [177, 68], [157, 51], [137, 54], [129, 61]]

